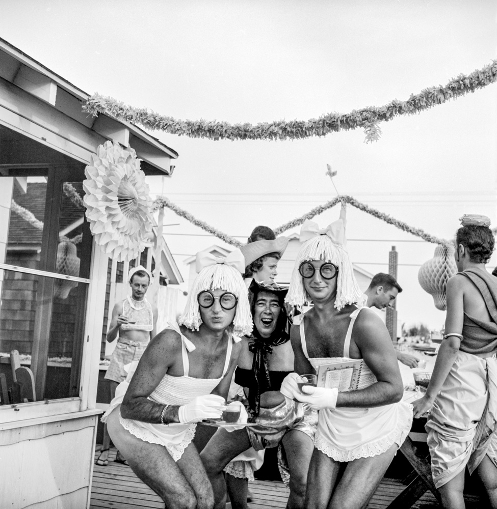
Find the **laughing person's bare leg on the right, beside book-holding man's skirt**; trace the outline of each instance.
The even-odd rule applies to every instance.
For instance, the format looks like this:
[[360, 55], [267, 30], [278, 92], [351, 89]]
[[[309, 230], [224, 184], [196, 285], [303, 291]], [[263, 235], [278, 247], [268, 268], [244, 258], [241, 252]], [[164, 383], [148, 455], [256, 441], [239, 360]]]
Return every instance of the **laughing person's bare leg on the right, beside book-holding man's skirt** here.
[[290, 496], [286, 506], [289, 509], [302, 509], [314, 441], [302, 431], [291, 430], [285, 433], [282, 442], [290, 469]]

